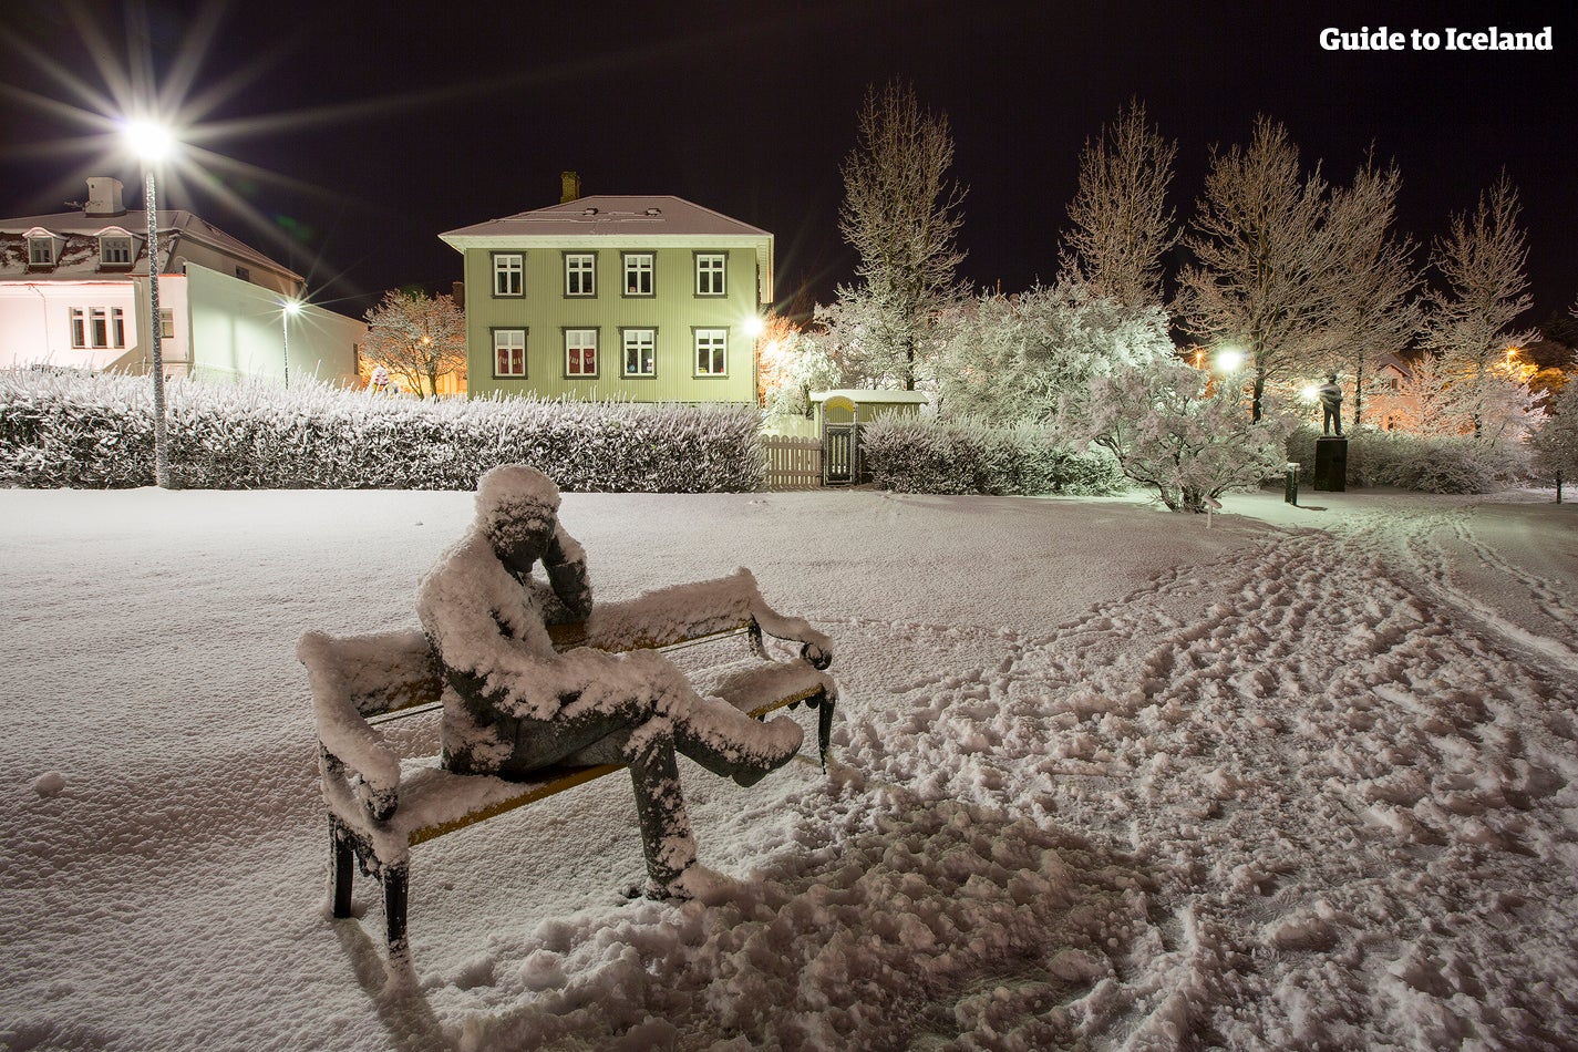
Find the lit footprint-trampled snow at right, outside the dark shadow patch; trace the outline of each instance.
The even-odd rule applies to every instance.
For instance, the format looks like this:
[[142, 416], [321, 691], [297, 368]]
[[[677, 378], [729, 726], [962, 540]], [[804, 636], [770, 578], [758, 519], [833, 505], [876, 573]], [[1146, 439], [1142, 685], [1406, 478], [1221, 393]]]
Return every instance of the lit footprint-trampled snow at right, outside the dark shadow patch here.
[[[1098, 981], [1010, 990], [978, 1038], [1578, 1044], [1572, 650], [1475, 601], [1449, 547], [1526, 587], [1567, 640], [1578, 617], [1472, 520], [1357, 516], [1179, 571], [1016, 639], [914, 744], [903, 716], [855, 733], [890, 779], [1084, 830], [1142, 874], [1105, 921]], [[999, 762], [1023, 741], [1053, 754]]]

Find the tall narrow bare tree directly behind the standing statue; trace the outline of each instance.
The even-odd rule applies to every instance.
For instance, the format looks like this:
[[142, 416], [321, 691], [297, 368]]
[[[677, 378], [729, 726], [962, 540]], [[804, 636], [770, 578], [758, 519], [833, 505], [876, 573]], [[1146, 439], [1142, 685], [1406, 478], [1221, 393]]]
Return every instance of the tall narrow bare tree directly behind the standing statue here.
[[1385, 355], [1403, 350], [1419, 330], [1414, 241], [1392, 233], [1401, 181], [1397, 164], [1381, 170], [1371, 155], [1352, 185], [1332, 194], [1329, 226], [1348, 249], [1348, 267], [1338, 289], [1344, 339], [1332, 350], [1330, 367], [1352, 379], [1356, 431], [1363, 423], [1367, 374]]

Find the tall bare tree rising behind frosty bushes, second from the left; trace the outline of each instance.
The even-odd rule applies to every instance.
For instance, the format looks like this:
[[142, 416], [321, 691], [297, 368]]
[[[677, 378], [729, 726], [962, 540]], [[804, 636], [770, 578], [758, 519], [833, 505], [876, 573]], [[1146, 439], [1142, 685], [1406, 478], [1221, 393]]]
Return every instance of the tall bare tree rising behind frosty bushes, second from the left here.
[[1079, 153], [1079, 189], [1068, 203], [1062, 268], [1125, 306], [1161, 303], [1161, 256], [1179, 241], [1168, 185], [1177, 142], [1128, 109]]

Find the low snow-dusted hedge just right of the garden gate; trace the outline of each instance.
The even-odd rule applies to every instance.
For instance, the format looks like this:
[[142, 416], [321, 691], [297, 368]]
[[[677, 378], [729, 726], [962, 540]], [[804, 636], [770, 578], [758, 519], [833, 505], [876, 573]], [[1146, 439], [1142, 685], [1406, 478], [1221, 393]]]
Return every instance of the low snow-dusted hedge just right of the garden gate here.
[[1114, 494], [1127, 489], [1101, 453], [1073, 453], [1043, 427], [991, 427], [881, 416], [860, 429], [873, 481], [906, 494]]

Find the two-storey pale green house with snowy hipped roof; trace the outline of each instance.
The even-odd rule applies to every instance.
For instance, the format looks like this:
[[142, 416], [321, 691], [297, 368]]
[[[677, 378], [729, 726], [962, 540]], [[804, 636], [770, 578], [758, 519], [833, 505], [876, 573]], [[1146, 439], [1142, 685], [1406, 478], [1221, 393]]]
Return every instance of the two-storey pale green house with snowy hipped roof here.
[[772, 233], [680, 197], [606, 196], [439, 237], [466, 257], [470, 394], [756, 402]]

